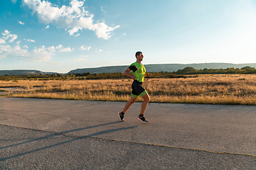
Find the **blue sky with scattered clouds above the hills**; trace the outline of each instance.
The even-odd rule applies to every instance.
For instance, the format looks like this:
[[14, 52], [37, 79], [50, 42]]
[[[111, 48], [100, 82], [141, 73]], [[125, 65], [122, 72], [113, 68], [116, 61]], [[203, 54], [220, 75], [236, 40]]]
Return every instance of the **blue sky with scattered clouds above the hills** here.
[[0, 0], [0, 70], [256, 63], [254, 0]]

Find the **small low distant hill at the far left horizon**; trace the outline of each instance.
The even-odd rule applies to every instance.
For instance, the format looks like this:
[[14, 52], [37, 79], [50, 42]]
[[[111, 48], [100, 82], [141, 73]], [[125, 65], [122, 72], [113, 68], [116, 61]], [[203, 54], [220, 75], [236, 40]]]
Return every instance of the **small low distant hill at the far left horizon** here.
[[30, 74], [57, 74], [56, 72], [41, 72], [38, 70], [26, 70], [26, 69], [16, 69], [16, 70], [0, 70], [0, 75], [30, 75]]

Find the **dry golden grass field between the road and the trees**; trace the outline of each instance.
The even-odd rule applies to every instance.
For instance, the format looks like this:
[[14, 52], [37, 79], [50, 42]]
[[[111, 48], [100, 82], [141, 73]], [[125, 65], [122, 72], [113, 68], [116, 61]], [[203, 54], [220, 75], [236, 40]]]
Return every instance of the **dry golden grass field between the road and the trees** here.
[[[0, 81], [0, 91], [8, 91], [1, 96], [9, 97], [128, 101], [131, 84], [132, 79], [16, 80]], [[145, 79], [143, 86], [151, 102], [256, 105], [255, 84], [255, 74], [213, 74], [186, 79]]]

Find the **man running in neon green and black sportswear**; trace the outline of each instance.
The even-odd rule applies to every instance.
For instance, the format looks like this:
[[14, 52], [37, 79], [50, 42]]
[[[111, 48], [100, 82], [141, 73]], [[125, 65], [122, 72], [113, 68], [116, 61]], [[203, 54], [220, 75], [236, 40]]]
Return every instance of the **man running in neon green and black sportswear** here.
[[[144, 123], [148, 123], [149, 121], [145, 119], [144, 117], [144, 112], [146, 110], [146, 106], [149, 103], [149, 94], [146, 92], [146, 90], [142, 87], [142, 83], [144, 81], [144, 77], [146, 74], [146, 69], [144, 67], [144, 65], [142, 64], [142, 60], [143, 60], [143, 55], [142, 52], [136, 52], [135, 57], [137, 59], [136, 62], [132, 63], [125, 71], [124, 74], [127, 77], [131, 77], [134, 81], [132, 83], [132, 95], [130, 100], [126, 103], [126, 105], [124, 106], [124, 109], [122, 112], [119, 112], [119, 119], [121, 121], [124, 121], [124, 113], [126, 113], [126, 111], [128, 110], [128, 108], [130, 106], [132, 106], [132, 103], [134, 103], [137, 98], [139, 98], [139, 96], [141, 96], [143, 98], [143, 102], [142, 102], [142, 109], [141, 109], [141, 113], [138, 116], [139, 120], [142, 120], [142, 122]], [[129, 74], [129, 72], [132, 71], [132, 74]], [[146, 74], [147, 76], [151, 77], [151, 73]]]

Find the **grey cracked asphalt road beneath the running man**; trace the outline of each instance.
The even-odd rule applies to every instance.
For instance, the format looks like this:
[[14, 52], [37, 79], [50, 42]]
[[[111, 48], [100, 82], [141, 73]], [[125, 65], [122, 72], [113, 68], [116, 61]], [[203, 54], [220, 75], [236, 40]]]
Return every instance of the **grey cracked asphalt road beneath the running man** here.
[[0, 169], [256, 169], [256, 107], [0, 98]]

